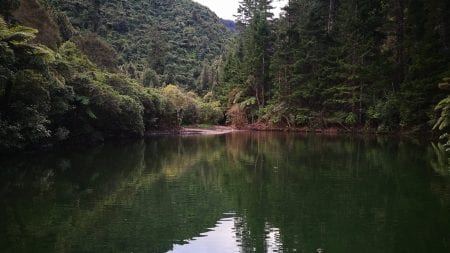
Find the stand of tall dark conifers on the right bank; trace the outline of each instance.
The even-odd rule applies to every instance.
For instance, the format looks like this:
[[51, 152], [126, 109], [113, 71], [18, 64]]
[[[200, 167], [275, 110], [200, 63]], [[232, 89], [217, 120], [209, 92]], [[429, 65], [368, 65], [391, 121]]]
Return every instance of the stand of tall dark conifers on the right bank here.
[[[429, 131], [450, 76], [450, 2], [241, 1], [215, 94], [236, 125]], [[441, 106], [442, 108], [442, 106]]]

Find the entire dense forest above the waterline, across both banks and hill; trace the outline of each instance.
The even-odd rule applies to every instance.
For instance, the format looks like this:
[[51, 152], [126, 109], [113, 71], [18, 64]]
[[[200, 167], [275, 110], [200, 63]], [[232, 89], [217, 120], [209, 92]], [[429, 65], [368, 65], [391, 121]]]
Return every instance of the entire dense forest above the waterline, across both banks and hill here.
[[[0, 0], [0, 150], [182, 125], [445, 131], [450, 2]], [[443, 136], [444, 138], [446, 135]]]

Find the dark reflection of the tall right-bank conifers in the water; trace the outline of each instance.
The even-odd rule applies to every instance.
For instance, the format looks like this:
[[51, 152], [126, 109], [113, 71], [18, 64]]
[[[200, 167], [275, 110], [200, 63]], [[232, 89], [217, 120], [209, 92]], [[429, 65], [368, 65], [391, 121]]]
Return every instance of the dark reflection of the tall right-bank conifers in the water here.
[[[231, 136], [227, 143], [243, 161], [225, 177], [244, 217], [236, 223], [244, 252], [264, 252], [267, 223], [280, 229], [285, 252], [447, 249], [441, 239], [450, 235], [450, 221], [442, 217], [449, 209], [432, 201], [438, 194], [428, 182], [436, 180], [424, 169], [428, 158], [420, 146], [263, 135], [261, 141]], [[436, 210], [447, 215], [436, 217]]]

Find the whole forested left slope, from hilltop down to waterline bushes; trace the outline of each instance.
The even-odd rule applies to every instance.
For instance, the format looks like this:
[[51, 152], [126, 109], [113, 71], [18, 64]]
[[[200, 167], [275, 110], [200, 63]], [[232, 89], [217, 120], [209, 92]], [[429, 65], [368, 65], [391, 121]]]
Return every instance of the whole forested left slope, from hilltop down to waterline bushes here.
[[0, 6], [0, 152], [223, 118], [211, 94], [182, 88], [199, 89], [203, 63], [228, 34], [206, 8], [190, 1]]

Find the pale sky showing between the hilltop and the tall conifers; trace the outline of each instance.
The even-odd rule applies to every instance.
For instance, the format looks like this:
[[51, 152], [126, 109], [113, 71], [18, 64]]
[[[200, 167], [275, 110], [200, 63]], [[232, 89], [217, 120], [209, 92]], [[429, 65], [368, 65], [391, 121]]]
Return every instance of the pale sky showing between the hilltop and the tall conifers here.
[[[217, 16], [224, 19], [234, 20], [234, 14], [236, 14], [237, 9], [239, 7], [239, 0], [194, 0], [194, 2], [200, 3], [209, 7], [212, 11], [214, 11]], [[274, 9], [275, 16], [278, 16], [280, 12], [280, 8], [285, 6], [288, 0], [274, 0], [273, 6], [276, 7]]]

